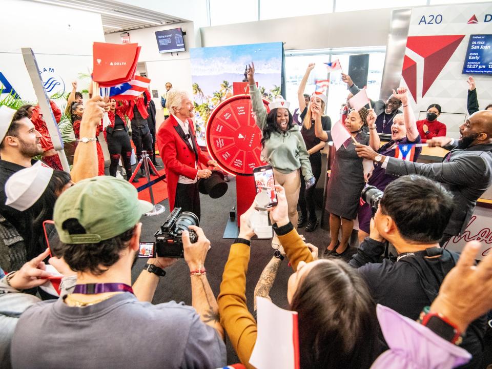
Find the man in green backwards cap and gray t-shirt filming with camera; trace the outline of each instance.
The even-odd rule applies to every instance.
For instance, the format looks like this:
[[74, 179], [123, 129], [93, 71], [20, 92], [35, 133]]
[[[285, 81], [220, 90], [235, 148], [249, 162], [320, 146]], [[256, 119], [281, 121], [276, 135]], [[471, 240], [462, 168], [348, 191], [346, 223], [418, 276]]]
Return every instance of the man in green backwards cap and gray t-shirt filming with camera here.
[[188, 232], [182, 235], [193, 306], [140, 302], [151, 301], [159, 277], [176, 259], [149, 259], [133, 285], [135, 294], [130, 286], [139, 220], [152, 209], [128, 181], [111, 176], [80, 181], [60, 195], [54, 209], [61, 241], [56, 254], [77, 273], [77, 284], [72, 294], [36, 304], [19, 318], [13, 367], [216, 368], [226, 363], [217, 303], [203, 267], [210, 241], [200, 228], [190, 227], [198, 235], [195, 243]]

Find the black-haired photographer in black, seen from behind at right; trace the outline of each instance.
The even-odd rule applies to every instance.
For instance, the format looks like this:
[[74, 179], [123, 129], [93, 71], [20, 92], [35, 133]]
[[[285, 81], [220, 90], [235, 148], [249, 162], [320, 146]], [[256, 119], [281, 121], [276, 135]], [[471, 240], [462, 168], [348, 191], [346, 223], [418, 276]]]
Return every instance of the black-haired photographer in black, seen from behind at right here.
[[[373, 193], [366, 201], [374, 205], [380, 195], [380, 191]], [[439, 246], [452, 212], [452, 194], [433, 180], [408, 175], [389, 183], [371, 221], [370, 236], [349, 261], [358, 268], [376, 303], [413, 320], [424, 306], [432, 304], [444, 277], [459, 258], [456, 252]], [[380, 262], [385, 241], [394, 245], [396, 261]], [[463, 367], [478, 367], [483, 352], [484, 317], [461, 333], [460, 346], [473, 355]]]

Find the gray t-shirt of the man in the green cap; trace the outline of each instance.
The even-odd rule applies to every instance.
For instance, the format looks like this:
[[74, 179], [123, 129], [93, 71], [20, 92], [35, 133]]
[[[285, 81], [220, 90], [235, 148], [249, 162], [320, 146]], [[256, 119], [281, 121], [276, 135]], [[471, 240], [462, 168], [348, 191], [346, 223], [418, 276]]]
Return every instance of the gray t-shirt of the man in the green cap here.
[[12, 367], [43, 369], [217, 368], [226, 345], [191, 306], [152, 305], [131, 293], [84, 308], [60, 298], [20, 316], [12, 339]]

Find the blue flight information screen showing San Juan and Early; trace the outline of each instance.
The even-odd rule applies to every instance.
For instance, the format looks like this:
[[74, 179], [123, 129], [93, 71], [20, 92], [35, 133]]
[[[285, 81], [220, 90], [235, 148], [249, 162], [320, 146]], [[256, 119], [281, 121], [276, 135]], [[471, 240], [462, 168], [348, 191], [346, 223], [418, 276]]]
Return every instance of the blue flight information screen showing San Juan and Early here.
[[470, 35], [462, 74], [492, 74], [492, 34]]

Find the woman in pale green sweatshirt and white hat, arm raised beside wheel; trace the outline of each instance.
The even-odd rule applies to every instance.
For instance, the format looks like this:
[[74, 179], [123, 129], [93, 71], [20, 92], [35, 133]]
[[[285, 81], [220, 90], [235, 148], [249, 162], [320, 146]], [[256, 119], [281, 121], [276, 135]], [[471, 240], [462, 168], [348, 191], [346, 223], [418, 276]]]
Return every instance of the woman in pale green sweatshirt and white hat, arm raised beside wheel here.
[[[263, 99], [255, 83], [255, 65], [248, 68], [248, 83], [250, 96], [255, 114], [256, 125], [262, 131], [261, 158], [273, 167], [275, 183], [283, 186], [289, 204], [289, 219], [297, 225], [297, 201], [301, 188], [299, 169], [306, 181], [306, 189], [314, 185], [315, 178], [311, 170], [308, 150], [304, 144], [301, 132], [294, 123], [289, 111], [289, 103], [283, 98], [269, 104], [267, 113]], [[279, 245], [275, 236], [272, 240], [274, 248]]]

